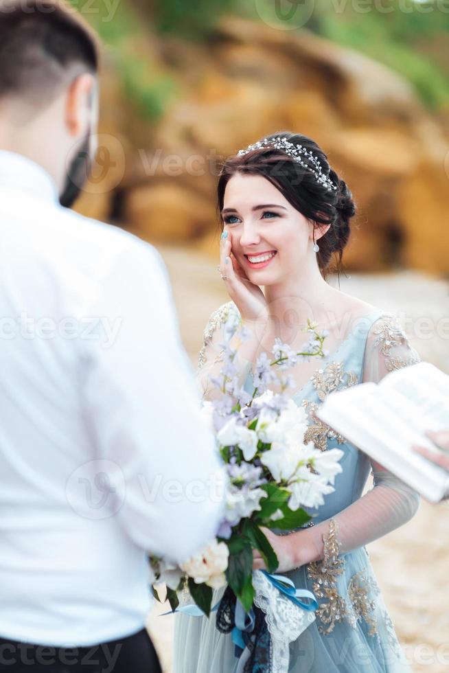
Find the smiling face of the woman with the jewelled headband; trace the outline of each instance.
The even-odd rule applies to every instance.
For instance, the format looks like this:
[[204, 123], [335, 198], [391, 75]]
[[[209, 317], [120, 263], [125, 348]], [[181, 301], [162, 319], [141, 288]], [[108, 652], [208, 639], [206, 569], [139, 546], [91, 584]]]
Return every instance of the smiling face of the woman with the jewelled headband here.
[[222, 218], [233, 255], [256, 285], [282, 282], [312, 254], [312, 225], [262, 176], [229, 180]]

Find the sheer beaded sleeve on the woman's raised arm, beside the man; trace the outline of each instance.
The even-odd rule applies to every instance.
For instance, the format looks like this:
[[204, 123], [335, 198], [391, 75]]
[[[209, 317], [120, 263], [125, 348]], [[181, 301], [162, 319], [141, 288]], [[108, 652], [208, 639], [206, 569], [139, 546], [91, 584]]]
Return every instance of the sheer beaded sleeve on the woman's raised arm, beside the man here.
[[[240, 312], [233, 303], [228, 301], [212, 313], [203, 334], [203, 347], [200, 350], [196, 380], [203, 400], [211, 400], [220, 393], [211, 385], [211, 377], [218, 377], [222, 369], [223, 345], [233, 339], [241, 324]], [[251, 370], [249, 361], [239, 358], [241, 371], [240, 385]]]

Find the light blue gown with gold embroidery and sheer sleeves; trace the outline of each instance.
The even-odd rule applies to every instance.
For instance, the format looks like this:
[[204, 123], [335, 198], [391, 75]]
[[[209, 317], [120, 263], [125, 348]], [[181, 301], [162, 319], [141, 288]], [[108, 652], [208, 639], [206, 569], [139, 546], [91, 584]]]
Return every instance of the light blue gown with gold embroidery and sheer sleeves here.
[[[233, 302], [211, 316], [199, 363], [205, 374], [208, 367], [216, 367], [220, 362], [220, 343], [230, 338], [238, 319]], [[318, 364], [316, 358], [312, 360], [315, 363], [308, 363], [312, 374], [295, 391], [293, 399], [308, 413], [306, 440], [321, 450], [334, 447], [343, 450], [343, 472], [337, 475], [335, 490], [325, 497], [325, 503], [311, 510], [316, 514], [314, 526], [321, 522], [324, 522], [321, 528], [325, 526], [323, 560], [284, 573], [297, 588], [312, 591], [319, 602], [315, 621], [290, 643], [288, 670], [292, 673], [410, 671], [365, 544], [406, 523], [416, 512], [419, 497], [391, 473], [371, 464], [367, 455], [314, 418], [313, 413], [330, 392], [362, 381], [377, 383], [388, 372], [416, 363], [419, 357], [394, 317], [377, 310], [359, 317], [325, 360]], [[245, 387], [252, 392], [251, 374]], [[363, 495], [371, 469], [374, 486]], [[351, 505], [359, 499], [363, 508], [358, 503], [358, 510], [354, 510]], [[341, 545], [352, 550], [343, 554]], [[214, 592], [214, 602], [222, 593], [223, 590]], [[209, 619], [176, 615], [173, 673], [234, 673], [236, 665], [231, 635], [216, 629], [214, 613]]]

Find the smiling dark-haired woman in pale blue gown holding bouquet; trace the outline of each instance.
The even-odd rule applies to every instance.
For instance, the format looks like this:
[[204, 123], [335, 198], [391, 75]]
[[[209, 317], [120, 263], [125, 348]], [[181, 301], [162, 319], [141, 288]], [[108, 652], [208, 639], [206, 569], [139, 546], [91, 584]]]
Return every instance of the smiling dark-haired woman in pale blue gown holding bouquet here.
[[[220, 344], [238, 339], [239, 324], [252, 334], [239, 350], [240, 379], [250, 393], [251, 365], [271, 351], [276, 337], [299, 350], [308, 319], [327, 334], [325, 358], [292, 369], [291, 394], [308, 414], [306, 442], [343, 450], [343, 472], [325, 504], [313, 510], [312, 525], [284, 535], [266, 531], [277, 571], [319, 602], [315, 621], [290, 644], [289, 671], [409, 671], [365, 545], [406, 523], [419, 497], [314, 414], [332, 391], [377, 383], [419, 361], [393, 316], [325, 280], [333, 259], [339, 268], [349, 239], [352, 194], [312, 139], [278, 133], [226, 161], [218, 205], [219, 269], [231, 301], [205, 329], [198, 370], [204, 397], [214, 394], [208, 380], [220, 372]], [[363, 494], [371, 470], [373, 488]], [[253, 567], [264, 567], [256, 552]], [[257, 656], [253, 652], [248, 670], [267, 670]], [[176, 615], [174, 673], [234, 673], [237, 663], [231, 635], [216, 629], [214, 613], [209, 619]]]

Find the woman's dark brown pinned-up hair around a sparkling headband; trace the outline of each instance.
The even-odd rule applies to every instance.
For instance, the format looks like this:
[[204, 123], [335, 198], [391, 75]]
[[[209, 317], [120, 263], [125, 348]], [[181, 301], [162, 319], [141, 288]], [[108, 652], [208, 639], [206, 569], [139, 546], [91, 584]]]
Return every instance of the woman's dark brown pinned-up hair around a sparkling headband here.
[[327, 190], [310, 170], [286, 152], [270, 146], [255, 148], [244, 155], [230, 157], [223, 164], [217, 187], [218, 212], [221, 213], [223, 208], [226, 185], [235, 173], [266, 178], [294, 208], [314, 223], [314, 228], [330, 225], [330, 229], [319, 239], [319, 252], [316, 253], [321, 275], [325, 277], [330, 271], [332, 255], [335, 259], [332, 271], [341, 270], [343, 249], [349, 240], [349, 220], [356, 214], [352, 193], [345, 181], [330, 168], [327, 155], [314, 140], [288, 131], [266, 136], [267, 140], [279, 138], [286, 138], [290, 143], [302, 145], [312, 152], [319, 159], [323, 174], [332, 181], [336, 190]]

